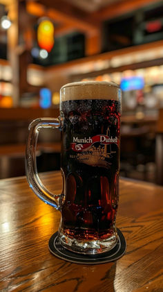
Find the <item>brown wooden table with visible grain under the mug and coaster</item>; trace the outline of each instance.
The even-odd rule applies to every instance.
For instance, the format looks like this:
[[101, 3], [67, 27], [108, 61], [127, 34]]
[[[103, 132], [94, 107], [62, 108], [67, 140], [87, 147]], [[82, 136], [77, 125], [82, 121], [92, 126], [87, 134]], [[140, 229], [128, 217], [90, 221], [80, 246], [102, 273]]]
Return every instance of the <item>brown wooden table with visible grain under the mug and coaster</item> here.
[[[59, 172], [41, 177], [59, 193]], [[26, 178], [0, 180], [0, 291], [163, 291], [162, 203], [162, 187], [121, 180], [117, 226], [126, 255], [109, 264], [71, 264], [48, 250], [59, 212], [32, 193]]]

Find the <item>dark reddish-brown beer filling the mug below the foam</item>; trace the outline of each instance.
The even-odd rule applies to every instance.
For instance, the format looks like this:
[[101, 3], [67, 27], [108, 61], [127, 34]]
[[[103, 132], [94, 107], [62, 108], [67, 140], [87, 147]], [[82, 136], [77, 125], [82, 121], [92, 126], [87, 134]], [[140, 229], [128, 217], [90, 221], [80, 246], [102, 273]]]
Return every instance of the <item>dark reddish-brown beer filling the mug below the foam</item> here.
[[111, 97], [61, 101], [64, 241], [117, 236], [120, 103]]

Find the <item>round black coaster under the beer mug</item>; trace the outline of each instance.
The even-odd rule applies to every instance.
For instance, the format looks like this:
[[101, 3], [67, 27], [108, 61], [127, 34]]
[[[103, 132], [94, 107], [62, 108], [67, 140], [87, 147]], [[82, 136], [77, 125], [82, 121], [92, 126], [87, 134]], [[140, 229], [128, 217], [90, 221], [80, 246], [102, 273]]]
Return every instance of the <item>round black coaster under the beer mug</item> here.
[[56, 257], [59, 257], [60, 259], [64, 259], [65, 261], [71, 261], [75, 264], [106, 264], [110, 261], [116, 261], [122, 255], [124, 255], [126, 251], [126, 240], [124, 238], [124, 235], [122, 232], [117, 228], [117, 234], [118, 234], [118, 242], [116, 246], [109, 250], [108, 252], [104, 252], [99, 255], [82, 255], [77, 252], [71, 252], [70, 250], [66, 250], [61, 244], [59, 243], [59, 240], [57, 238], [57, 233], [52, 235], [50, 237], [48, 247], [50, 252], [52, 252], [53, 255], [56, 255]]

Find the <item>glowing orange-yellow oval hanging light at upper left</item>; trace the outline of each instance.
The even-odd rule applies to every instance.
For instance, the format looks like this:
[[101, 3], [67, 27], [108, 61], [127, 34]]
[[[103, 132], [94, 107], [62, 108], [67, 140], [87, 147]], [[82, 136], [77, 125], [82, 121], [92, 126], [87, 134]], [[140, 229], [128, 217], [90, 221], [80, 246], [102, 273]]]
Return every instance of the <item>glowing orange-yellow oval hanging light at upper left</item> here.
[[54, 46], [54, 31], [55, 28], [50, 20], [40, 22], [37, 29], [37, 41], [41, 49], [45, 49], [48, 53]]

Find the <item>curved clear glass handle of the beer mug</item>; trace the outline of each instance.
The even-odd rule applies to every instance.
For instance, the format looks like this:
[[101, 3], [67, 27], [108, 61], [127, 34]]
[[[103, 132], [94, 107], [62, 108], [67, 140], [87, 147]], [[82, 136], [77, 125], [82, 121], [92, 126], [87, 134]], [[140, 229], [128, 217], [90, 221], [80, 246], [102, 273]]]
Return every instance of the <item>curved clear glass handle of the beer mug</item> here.
[[32, 191], [45, 203], [60, 209], [59, 202], [63, 198], [63, 194], [54, 195], [41, 182], [37, 173], [37, 162], [36, 162], [36, 147], [37, 139], [39, 136], [39, 130], [41, 128], [52, 128], [56, 129], [61, 126], [59, 119], [53, 118], [39, 118], [35, 119], [30, 123], [28, 127], [28, 140], [26, 144], [26, 177]]

